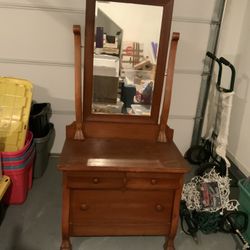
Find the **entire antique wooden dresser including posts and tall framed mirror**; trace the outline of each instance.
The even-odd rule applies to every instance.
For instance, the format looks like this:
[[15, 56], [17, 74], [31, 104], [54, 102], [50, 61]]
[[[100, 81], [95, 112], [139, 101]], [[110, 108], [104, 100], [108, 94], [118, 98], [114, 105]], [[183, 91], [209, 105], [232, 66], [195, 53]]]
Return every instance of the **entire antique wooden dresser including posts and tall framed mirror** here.
[[[151, 58], [150, 62], [146, 46], [141, 46], [141, 42], [133, 47], [134, 42], [132, 48], [128, 45], [124, 49], [126, 25], [119, 23], [120, 27], [117, 25], [119, 18], [112, 16], [119, 13], [122, 19], [124, 12], [129, 14], [144, 10], [144, 7], [146, 17], [156, 10], [160, 20], [158, 49], [155, 61]], [[83, 84], [81, 30], [78, 25], [73, 28], [76, 120], [66, 127], [66, 139], [58, 164], [63, 174], [61, 250], [73, 249], [70, 237], [125, 235], [163, 235], [166, 236], [164, 249], [175, 249], [184, 174], [189, 169], [173, 142], [173, 130], [167, 125], [179, 39], [178, 33], [170, 39], [172, 8], [173, 0], [86, 0]], [[146, 19], [140, 25], [149, 27], [151, 21]], [[102, 25], [102, 21], [113, 28]], [[130, 25], [138, 23], [135, 18]], [[121, 30], [112, 33], [114, 27]], [[99, 36], [101, 40], [98, 41]], [[168, 44], [171, 46], [166, 75]], [[140, 55], [142, 51], [145, 55]], [[105, 72], [103, 63], [112, 68], [108, 60], [112, 58], [114, 61], [116, 57], [120, 62], [117, 101], [95, 103], [95, 67]], [[140, 68], [141, 65], [146, 67]], [[146, 76], [141, 77], [142, 73]], [[112, 77], [114, 83], [115, 76]], [[118, 102], [126, 99], [119, 92], [120, 85], [128, 84], [128, 78], [134, 85], [144, 85], [147, 89], [149, 83], [150, 86], [153, 84], [150, 101], [142, 101], [143, 98], [146, 100], [143, 96], [145, 88], [144, 92], [138, 93], [138, 86], [133, 86], [137, 96], [134, 96], [132, 108], [129, 105], [119, 108]], [[138, 100], [139, 94], [141, 99]], [[97, 106], [102, 108], [94, 108]], [[149, 111], [133, 113], [133, 108], [138, 107], [149, 107]]]

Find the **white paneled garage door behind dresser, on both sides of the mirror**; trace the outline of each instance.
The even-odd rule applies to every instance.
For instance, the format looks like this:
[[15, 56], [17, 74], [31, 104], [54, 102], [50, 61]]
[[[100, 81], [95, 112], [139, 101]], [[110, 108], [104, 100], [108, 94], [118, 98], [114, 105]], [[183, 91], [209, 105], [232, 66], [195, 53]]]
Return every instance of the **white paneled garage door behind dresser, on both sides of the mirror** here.
[[[169, 124], [184, 153], [194, 116], [215, 0], [175, 0], [172, 31], [180, 32]], [[29, 79], [37, 102], [50, 102], [61, 151], [74, 120], [72, 25], [84, 30], [84, 0], [0, 0], [0, 75]]]

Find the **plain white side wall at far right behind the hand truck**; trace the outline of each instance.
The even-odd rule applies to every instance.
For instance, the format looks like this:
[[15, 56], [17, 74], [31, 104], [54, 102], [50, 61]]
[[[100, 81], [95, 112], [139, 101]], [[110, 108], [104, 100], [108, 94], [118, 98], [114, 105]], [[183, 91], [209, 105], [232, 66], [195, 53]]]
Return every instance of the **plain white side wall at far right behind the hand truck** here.
[[[227, 58], [236, 68], [228, 155], [247, 176], [250, 174], [249, 12], [250, 1], [228, 1], [218, 50], [218, 55]], [[227, 73], [225, 81], [228, 79]]]

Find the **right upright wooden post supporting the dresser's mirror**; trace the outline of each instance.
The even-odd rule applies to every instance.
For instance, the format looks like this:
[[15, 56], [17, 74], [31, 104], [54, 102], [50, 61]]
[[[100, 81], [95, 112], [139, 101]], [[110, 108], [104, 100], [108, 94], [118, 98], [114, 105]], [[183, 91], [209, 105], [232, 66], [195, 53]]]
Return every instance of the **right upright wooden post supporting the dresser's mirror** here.
[[[168, 140], [172, 140], [172, 138], [170, 138], [166, 130], [168, 128], [167, 121], [169, 117], [172, 86], [173, 86], [173, 79], [174, 79], [175, 58], [176, 58], [176, 51], [177, 51], [179, 37], [180, 37], [180, 33], [173, 32], [172, 40], [171, 40], [171, 47], [170, 47], [170, 54], [169, 54], [169, 59], [168, 59], [167, 79], [166, 79], [163, 107], [162, 107], [162, 112], [161, 112], [158, 142], [167, 142]], [[173, 135], [171, 135], [171, 137], [172, 136]]]

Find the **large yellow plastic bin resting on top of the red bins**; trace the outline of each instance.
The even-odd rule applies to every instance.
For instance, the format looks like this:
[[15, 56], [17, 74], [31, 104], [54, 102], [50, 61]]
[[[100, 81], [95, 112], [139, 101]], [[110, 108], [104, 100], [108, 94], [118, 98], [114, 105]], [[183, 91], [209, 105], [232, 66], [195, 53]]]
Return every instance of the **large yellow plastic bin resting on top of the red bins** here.
[[0, 152], [13, 152], [24, 146], [31, 101], [31, 82], [0, 77]]

